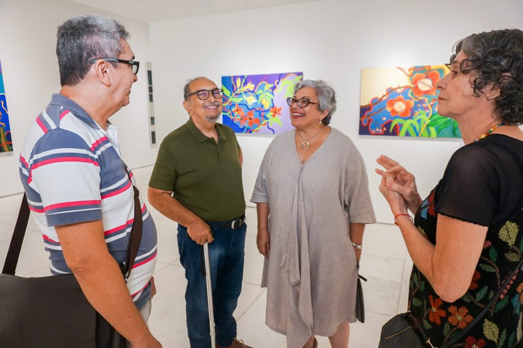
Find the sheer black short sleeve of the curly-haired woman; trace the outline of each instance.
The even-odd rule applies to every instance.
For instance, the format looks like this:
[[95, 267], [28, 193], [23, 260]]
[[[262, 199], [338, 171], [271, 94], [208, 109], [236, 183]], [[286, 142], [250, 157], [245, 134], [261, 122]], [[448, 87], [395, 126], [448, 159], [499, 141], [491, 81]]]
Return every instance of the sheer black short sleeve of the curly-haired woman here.
[[470, 144], [456, 151], [436, 191], [436, 213], [490, 225], [501, 189], [500, 169], [487, 148]]

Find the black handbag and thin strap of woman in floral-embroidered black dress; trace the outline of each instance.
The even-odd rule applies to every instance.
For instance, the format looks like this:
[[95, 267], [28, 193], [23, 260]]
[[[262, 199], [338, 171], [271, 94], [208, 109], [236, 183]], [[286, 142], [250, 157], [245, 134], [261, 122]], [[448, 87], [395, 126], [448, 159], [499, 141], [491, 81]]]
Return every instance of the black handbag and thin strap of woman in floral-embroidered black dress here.
[[[472, 320], [467, 327], [461, 330], [458, 334], [445, 342], [439, 348], [449, 348], [454, 343], [458, 342], [470, 331], [487, 313], [487, 311], [496, 302], [499, 296], [507, 287], [509, 281], [514, 277], [517, 270], [523, 265], [523, 258], [518, 262], [516, 268], [510, 273], [505, 282], [499, 287], [496, 295], [494, 295], [490, 302], [483, 308], [479, 315]], [[380, 345], [378, 348], [435, 348], [430, 342], [430, 338], [419, 324], [419, 322], [410, 313], [398, 314], [383, 325], [381, 328]]]

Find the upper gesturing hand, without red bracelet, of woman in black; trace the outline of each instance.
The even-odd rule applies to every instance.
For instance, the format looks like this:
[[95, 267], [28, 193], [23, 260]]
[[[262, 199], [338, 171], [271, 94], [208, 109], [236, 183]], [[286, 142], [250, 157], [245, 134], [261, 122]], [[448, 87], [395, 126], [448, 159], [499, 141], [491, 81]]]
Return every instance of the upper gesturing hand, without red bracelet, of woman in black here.
[[[418, 194], [414, 175], [408, 172], [400, 163], [385, 155], [380, 155], [377, 162], [386, 170], [376, 169], [376, 173], [382, 176], [382, 184], [385, 184], [387, 189], [403, 196], [408, 209], [415, 213], [422, 203], [422, 198]], [[387, 175], [391, 175], [389, 181], [386, 178]], [[381, 187], [382, 185], [380, 185], [380, 191], [382, 191]], [[383, 191], [381, 193], [385, 195]]]

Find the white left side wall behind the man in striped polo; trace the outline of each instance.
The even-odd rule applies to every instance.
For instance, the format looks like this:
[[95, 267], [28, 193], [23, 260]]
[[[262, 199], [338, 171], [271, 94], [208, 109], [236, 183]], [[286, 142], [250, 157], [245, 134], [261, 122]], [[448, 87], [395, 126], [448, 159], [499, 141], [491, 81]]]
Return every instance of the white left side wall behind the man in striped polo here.
[[0, 61], [14, 151], [0, 155], [0, 197], [22, 191], [18, 176], [20, 147], [29, 125], [60, 91], [56, 28], [67, 18], [97, 14], [115, 18], [131, 33], [129, 43], [142, 65], [131, 103], [110, 121], [119, 129], [123, 159], [134, 168], [153, 164], [149, 145], [145, 62], [150, 61], [149, 25], [66, 0], [0, 0]]

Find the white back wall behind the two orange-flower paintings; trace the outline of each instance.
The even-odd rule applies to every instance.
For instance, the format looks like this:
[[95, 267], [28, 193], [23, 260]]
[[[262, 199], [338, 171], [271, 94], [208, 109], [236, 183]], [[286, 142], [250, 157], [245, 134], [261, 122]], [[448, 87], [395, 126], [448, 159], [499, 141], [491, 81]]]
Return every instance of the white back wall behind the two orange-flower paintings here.
[[[452, 45], [474, 32], [523, 27], [518, 0], [394, 2], [325, 0], [153, 23], [157, 139], [187, 120], [181, 107], [187, 78], [303, 71], [324, 79], [338, 94], [332, 126], [351, 137], [366, 160], [378, 221], [392, 215], [378, 191], [375, 159], [387, 154], [417, 177], [428, 194], [460, 140], [400, 139], [358, 135], [360, 71], [448, 62]], [[160, 73], [161, 72], [161, 73]], [[238, 136], [244, 151], [246, 200], [270, 137]]]

